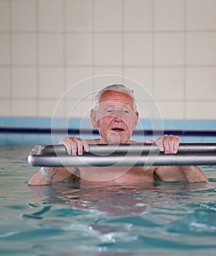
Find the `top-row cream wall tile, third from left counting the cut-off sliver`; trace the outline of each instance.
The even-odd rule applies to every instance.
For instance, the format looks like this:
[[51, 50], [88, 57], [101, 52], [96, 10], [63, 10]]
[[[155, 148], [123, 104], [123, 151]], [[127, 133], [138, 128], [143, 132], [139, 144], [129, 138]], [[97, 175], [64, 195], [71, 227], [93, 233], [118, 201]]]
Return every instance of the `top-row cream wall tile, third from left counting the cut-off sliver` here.
[[39, 31], [63, 31], [63, 1], [39, 0]]

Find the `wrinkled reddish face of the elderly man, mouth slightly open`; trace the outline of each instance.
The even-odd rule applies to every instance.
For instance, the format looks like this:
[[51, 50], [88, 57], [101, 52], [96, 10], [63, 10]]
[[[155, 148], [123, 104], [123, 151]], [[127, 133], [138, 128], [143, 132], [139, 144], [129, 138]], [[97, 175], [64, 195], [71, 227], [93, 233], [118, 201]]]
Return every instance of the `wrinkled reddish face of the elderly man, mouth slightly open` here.
[[134, 101], [121, 91], [104, 91], [99, 98], [96, 125], [101, 143], [128, 143], [139, 114], [134, 112]]

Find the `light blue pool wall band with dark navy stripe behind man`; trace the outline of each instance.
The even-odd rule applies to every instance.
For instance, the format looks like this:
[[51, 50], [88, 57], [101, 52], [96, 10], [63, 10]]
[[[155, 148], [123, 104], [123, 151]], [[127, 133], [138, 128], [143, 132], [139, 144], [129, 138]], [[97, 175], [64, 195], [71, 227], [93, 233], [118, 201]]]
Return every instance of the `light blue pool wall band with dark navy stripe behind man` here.
[[[82, 129], [80, 124], [82, 123]], [[58, 144], [67, 135], [96, 138], [90, 120], [81, 118], [0, 118], [0, 146]], [[163, 127], [153, 129], [152, 121], [141, 119], [133, 139], [143, 141], [162, 133], [180, 136], [185, 143], [216, 143], [215, 120], [163, 120]], [[81, 135], [80, 135], [81, 131]]]

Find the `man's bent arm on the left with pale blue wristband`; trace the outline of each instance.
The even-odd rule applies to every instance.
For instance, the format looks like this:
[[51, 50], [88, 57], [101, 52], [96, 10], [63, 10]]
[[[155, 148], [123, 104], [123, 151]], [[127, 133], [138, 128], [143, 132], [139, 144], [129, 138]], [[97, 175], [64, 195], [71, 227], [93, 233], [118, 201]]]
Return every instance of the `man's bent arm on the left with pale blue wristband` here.
[[75, 171], [76, 167], [66, 170], [65, 167], [42, 167], [38, 172], [31, 178], [28, 185], [48, 185], [51, 182], [65, 181], [70, 178]]

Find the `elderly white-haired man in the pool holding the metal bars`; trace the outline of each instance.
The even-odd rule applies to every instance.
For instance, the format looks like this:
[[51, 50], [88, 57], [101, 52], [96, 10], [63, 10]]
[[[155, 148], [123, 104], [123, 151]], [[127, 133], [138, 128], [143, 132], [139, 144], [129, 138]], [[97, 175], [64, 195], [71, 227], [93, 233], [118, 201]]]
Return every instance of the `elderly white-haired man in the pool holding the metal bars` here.
[[[99, 129], [100, 139], [81, 140], [63, 138], [59, 144], [66, 147], [68, 154], [82, 155], [89, 151], [88, 144], [136, 143], [131, 135], [136, 128], [139, 113], [133, 91], [123, 85], [112, 85], [99, 91], [95, 98], [90, 119], [94, 128]], [[165, 154], [176, 154], [180, 138], [164, 135], [156, 143]], [[29, 181], [30, 185], [50, 184], [56, 181], [80, 180], [82, 182], [153, 182], [153, 181], [208, 181], [197, 166], [131, 166], [131, 167], [42, 167]]]

